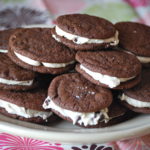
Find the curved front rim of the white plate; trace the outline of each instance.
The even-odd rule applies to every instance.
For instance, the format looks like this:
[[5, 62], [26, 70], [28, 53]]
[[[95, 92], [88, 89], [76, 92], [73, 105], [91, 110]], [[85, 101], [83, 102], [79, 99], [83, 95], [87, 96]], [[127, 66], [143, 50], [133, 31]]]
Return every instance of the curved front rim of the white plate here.
[[[12, 119], [12, 118], [11, 118]], [[13, 119], [15, 120], [15, 119]], [[18, 120], [15, 120], [18, 121]], [[53, 129], [53, 127], [50, 127]], [[88, 130], [88, 129], [87, 129]], [[130, 129], [124, 129], [119, 131], [109, 131], [109, 132], [94, 132], [91, 130], [91, 132], [79, 132], [79, 129], [74, 129], [74, 132], [66, 132], [58, 130], [49, 130], [46, 129], [37, 129], [37, 128], [31, 128], [26, 126], [21, 126], [17, 124], [12, 124], [7, 121], [0, 120], [0, 131], [9, 133], [12, 135], [17, 136], [23, 136], [38, 140], [43, 140], [47, 142], [59, 142], [59, 143], [76, 143], [76, 144], [102, 144], [110, 141], [117, 141], [127, 138], [133, 138], [136, 136], [143, 136], [150, 133], [150, 124], [143, 124], [142, 126], [132, 127]], [[30, 134], [32, 133], [32, 134]], [[89, 136], [92, 134], [92, 138], [89, 138]], [[109, 134], [111, 133], [111, 136]], [[46, 136], [45, 136], [46, 135]], [[113, 137], [113, 139], [112, 139]], [[69, 141], [68, 141], [69, 139]], [[81, 140], [82, 139], [82, 140]]]

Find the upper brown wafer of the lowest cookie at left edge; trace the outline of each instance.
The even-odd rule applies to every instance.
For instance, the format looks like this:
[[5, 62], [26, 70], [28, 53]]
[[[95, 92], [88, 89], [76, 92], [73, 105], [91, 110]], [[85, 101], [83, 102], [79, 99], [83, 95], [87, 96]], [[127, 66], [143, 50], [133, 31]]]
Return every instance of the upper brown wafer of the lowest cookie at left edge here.
[[[26, 109], [43, 111], [42, 104], [47, 96], [47, 91], [35, 89], [28, 92], [14, 92], [0, 90], [0, 99]], [[45, 110], [44, 110], [45, 111]]]

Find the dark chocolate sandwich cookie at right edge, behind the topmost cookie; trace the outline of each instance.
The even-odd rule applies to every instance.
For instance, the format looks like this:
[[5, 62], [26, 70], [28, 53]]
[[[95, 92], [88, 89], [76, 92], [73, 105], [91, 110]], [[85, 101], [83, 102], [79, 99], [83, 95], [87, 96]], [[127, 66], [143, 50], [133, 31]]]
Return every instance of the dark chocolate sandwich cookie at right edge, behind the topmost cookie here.
[[143, 66], [150, 67], [150, 27], [133, 22], [119, 22], [119, 46], [131, 52]]

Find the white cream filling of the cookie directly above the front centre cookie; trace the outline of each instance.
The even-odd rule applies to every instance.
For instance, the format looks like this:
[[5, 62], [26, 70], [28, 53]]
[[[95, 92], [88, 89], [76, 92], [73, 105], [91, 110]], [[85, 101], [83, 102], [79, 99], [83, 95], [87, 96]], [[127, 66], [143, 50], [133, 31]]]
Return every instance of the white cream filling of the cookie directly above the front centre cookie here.
[[135, 77], [131, 78], [117, 78], [117, 77], [112, 77], [108, 75], [104, 75], [98, 72], [93, 72], [83, 65], [80, 65], [80, 69], [84, 70], [88, 75], [90, 75], [94, 80], [98, 80], [100, 83], [108, 85], [110, 88], [117, 87], [120, 85], [121, 82], [126, 82], [128, 80], [131, 80]]

